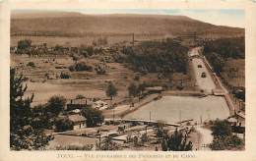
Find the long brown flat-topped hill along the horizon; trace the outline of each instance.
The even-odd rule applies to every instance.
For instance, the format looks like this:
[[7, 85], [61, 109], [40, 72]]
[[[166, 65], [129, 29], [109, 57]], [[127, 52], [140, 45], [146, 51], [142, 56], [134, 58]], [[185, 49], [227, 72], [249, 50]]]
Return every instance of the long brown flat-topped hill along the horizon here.
[[12, 13], [11, 35], [88, 36], [135, 34], [236, 36], [243, 28], [218, 27], [185, 16], [84, 15], [80, 13]]

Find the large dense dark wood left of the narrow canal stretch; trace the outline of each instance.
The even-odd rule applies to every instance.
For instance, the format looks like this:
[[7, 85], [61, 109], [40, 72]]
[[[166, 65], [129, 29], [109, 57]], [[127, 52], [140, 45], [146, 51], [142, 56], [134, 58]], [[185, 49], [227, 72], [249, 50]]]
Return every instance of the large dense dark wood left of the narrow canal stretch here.
[[145, 41], [123, 50], [126, 62], [140, 73], [186, 73], [188, 49], [167, 38], [164, 41]]

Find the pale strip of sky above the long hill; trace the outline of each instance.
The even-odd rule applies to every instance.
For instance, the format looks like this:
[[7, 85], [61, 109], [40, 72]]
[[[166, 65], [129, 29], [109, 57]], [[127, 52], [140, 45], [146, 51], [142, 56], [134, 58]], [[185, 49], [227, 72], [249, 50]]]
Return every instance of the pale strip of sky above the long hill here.
[[182, 10], [182, 9], [83, 9], [73, 10], [82, 14], [145, 14], [145, 15], [182, 15], [205, 23], [227, 27], [245, 27], [244, 10]]

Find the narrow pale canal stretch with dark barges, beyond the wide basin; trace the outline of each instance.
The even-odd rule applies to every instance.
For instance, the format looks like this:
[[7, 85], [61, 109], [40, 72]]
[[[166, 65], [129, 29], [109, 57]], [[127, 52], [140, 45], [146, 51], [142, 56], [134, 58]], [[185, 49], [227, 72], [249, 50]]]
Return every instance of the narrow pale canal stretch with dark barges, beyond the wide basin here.
[[[206, 92], [212, 92], [213, 89], [216, 88], [216, 84], [211, 77], [208, 69], [205, 66], [205, 63], [203, 62], [202, 58], [195, 57], [199, 56], [199, 49], [198, 47], [193, 48], [189, 51], [189, 56], [194, 57], [192, 58], [191, 62], [193, 65], [194, 73], [195, 73], [195, 79], [196, 79], [196, 85], [200, 88], [203, 89]], [[201, 65], [202, 67], [199, 68], [198, 66]], [[201, 75], [202, 73], [206, 74], [206, 78], [202, 78]]]

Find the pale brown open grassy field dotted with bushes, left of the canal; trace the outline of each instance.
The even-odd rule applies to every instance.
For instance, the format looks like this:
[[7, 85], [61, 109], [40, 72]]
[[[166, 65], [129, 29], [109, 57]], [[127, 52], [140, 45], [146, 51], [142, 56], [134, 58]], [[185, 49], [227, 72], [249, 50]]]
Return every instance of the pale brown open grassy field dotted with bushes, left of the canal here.
[[[96, 58], [83, 58], [87, 64], [95, 67], [100, 61]], [[35, 67], [28, 66], [33, 62]], [[28, 57], [25, 55], [11, 55], [11, 67], [16, 67], [18, 73], [23, 74], [29, 80], [27, 95], [34, 93], [33, 105], [45, 103], [52, 95], [63, 95], [67, 99], [75, 98], [78, 94], [83, 94], [89, 98], [108, 99], [105, 95], [105, 89], [108, 81], [112, 81], [118, 89], [118, 94], [114, 97], [114, 102], [119, 102], [128, 97], [127, 88], [132, 81], [146, 81], [154, 85], [164, 85], [169, 82], [166, 78], [159, 78], [157, 73], [150, 73], [140, 77], [140, 80], [134, 80], [137, 75], [127, 68], [125, 64], [106, 63], [106, 74], [97, 75], [93, 72], [69, 72], [68, 67], [73, 65], [74, 61], [68, 56], [56, 58]], [[59, 79], [57, 76], [61, 72], [67, 72], [71, 79]], [[45, 77], [48, 74], [48, 79]], [[184, 89], [193, 88], [194, 81], [190, 76], [174, 73], [172, 77], [172, 87], [183, 80]]]

